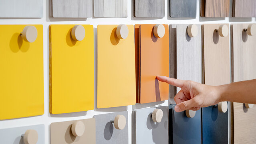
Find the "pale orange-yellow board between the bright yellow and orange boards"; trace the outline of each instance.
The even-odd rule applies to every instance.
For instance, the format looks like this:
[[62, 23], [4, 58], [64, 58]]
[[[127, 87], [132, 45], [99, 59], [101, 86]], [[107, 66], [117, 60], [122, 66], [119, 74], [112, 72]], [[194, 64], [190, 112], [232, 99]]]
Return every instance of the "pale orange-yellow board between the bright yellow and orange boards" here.
[[134, 26], [119, 39], [118, 25], [98, 25], [97, 108], [133, 105], [136, 102]]

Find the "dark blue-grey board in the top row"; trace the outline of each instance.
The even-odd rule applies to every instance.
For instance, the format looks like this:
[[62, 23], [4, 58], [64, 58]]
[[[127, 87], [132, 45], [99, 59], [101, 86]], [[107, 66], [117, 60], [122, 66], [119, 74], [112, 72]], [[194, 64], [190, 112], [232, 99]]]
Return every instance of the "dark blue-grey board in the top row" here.
[[170, 0], [170, 17], [196, 18], [196, 0]]

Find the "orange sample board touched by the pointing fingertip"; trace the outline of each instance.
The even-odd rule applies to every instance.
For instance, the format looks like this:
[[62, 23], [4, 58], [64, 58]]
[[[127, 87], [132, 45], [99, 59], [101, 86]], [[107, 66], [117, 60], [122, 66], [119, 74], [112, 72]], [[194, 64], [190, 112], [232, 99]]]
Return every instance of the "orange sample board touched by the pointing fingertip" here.
[[162, 38], [156, 38], [153, 34], [154, 26], [155, 24], [135, 25], [139, 103], [163, 101], [169, 97], [169, 85], [156, 79], [156, 76], [169, 76], [169, 28], [163, 24], [165, 34]]

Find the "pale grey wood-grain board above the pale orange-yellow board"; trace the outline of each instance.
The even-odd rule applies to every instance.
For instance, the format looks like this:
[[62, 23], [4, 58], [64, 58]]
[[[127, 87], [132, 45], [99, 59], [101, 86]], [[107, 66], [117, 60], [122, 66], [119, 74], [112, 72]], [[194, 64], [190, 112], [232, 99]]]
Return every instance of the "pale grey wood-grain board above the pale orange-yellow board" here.
[[127, 0], [93, 0], [94, 17], [127, 18]]

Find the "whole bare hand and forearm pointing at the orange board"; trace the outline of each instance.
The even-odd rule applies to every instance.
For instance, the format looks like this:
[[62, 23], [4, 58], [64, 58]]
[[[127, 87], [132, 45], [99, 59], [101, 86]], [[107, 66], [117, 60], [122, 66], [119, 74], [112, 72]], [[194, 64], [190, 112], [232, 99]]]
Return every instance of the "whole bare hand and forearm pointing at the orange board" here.
[[223, 101], [256, 104], [256, 79], [221, 86], [209, 86], [191, 80], [178, 80], [166, 76], [157, 76], [157, 79], [181, 88], [174, 97], [177, 104], [176, 112], [199, 110]]

